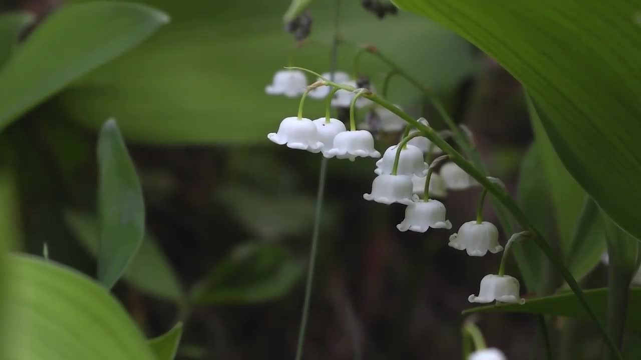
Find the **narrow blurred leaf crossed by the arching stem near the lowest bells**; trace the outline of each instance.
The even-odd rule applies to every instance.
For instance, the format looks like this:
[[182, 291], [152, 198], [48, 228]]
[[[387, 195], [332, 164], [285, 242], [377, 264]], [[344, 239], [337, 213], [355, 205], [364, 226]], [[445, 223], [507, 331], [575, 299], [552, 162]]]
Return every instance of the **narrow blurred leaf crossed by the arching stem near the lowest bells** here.
[[[545, 240], [549, 241], [553, 219], [550, 216], [550, 193], [545, 174], [540, 170], [541, 159], [538, 147], [533, 144], [524, 156], [517, 197], [528, 218], [538, 229], [544, 229]], [[543, 294], [547, 286], [549, 261], [534, 241], [519, 241], [512, 245], [512, 252], [519, 266], [528, 291]]]

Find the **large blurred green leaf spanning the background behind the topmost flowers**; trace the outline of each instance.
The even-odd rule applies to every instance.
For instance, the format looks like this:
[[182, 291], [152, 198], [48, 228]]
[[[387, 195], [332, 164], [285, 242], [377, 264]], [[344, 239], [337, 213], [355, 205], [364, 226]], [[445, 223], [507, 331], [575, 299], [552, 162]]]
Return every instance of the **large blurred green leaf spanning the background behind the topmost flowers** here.
[[[329, 70], [335, 11], [326, 1], [310, 6], [312, 35], [301, 48], [283, 31], [289, 0], [144, 2], [171, 13], [172, 23], [65, 92], [59, 100], [72, 120], [97, 128], [115, 116], [136, 142], [267, 145], [267, 133], [295, 113], [299, 101], [265, 94], [274, 73], [289, 60]], [[342, 1], [341, 19], [339, 70], [353, 72], [356, 44], [370, 41], [435, 90], [451, 89], [476, 69], [467, 42], [416, 15], [381, 22], [358, 1]], [[382, 86], [387, 65], [365, 56], [362, 69]], [[421, 96], [399, 79], [390, 90], [392, 100], [405, 106]], [[304, 113], [322, 117], [324, 102], [308, 100]]]

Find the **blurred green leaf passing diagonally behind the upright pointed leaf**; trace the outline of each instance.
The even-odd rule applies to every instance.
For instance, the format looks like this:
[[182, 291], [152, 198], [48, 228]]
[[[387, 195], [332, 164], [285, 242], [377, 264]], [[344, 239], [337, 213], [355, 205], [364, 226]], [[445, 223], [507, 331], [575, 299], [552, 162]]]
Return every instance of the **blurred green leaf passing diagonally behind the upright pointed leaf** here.
[[[77, 211], [65, 211], [65, 220], [87, 251], [96, 256], [99, 233], [96, 218]], [[122, 277], [138, 290], [159, 299], [177, 303], [184, 297], [174, 268], [149, 234], [144, 236], [140, 249]]]

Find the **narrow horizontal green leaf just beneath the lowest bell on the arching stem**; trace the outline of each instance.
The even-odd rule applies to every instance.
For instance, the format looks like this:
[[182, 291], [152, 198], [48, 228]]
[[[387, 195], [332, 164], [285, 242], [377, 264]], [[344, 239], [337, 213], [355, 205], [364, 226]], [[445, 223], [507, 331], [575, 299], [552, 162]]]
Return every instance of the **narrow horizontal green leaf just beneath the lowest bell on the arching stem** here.
[[[583, 291], [585, 297], [592, 307], [592, 310], [601, 319], [601, 323], [605, 323], [606, 316], [606, 302], [607, 302], [607, 288], [591, 289]], [[628, 304], [641, 303], [641, 288], [631, 288], [628, 294]], [[560, 295], [553, 295], [549, 297], [540, 297], [529, 299], [525, 304], [501, 304], [490, 306], [477, 306], [471, 307], [463, 311], [463, 314], [470, 313], [483, 313], [483, 312], [502, 312], [502, 313], [531, 313], [531, 314], [544, 314], [553, 316], [565, 316], [568, 318], [577, 318], [581, 320], [589, 320], [588, 315], [579, 302], [576, 300], [574, 293], [567, 292]], [[629, 330], [641, 331], [641, 312], [628, 311], [626, 318], [626, 326]]]

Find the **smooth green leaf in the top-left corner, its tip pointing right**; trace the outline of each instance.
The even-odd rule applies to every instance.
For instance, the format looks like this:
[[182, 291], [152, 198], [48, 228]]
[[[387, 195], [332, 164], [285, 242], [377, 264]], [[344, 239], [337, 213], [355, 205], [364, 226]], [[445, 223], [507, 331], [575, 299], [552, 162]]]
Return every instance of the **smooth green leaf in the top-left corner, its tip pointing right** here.
[[80, 76], [131, 49], [168, 20], [147, 6], [112, 1], [56, 10], [0, 70], [0, 130]]

